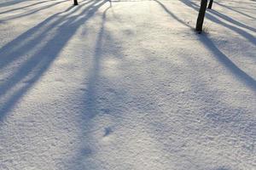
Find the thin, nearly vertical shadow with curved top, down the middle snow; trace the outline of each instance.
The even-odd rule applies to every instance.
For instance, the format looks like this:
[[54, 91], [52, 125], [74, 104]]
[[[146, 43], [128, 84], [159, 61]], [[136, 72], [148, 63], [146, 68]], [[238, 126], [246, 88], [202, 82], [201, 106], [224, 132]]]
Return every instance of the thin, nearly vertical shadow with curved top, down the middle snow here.
[[[84, 95], [82, 96], [83, 99], [83, 107], [81, 110], [81, 115], [79, 117], [79, 122], [83, 120], [81, 123], [81, 133], [83, 133], [83, 136], [85, 138], [85, 143], [82, 143], [79, 147], [79, 150], [77, 153], [69, 158], [72, 159], [71, 162], [75, 162], [74, 165], [70, 165], [67, 167], [67, 169], [91, 169], [90, 162], [84, 161], [84, 157], [90, 156], [92, 150], [91, 146], [88, 144], [88, 138], [93, 139], [91, 137], [91, 129], [93, 128], [92, 124], [90, 124], [90, 119], [94, 118], [97, 115], [97, 110], [98, 110], [98, 105], [97, 105], [97, 99], [96, 99], [96, 94], [97, 94], [97, 82], [99, 81], [99, 76], [101, 72], [101, 60], [103, 57], [103, 40], [105, 36], [105, 24], [106, 24], [106, 17], [107, 17], [107, 12], [108, 9], [111, 8], [111, 5], [104, 10], [102, 13], [102, 23], [100, 30], [96, 36], [96, 43], [95, 43], [95, 48], [94, 48], [94, 54], [93, 54], [93, 60], [92, 60], [92, 66], [89, 71], [89, 79], [88, 79], [88, 88]], [[88, 125], [90, 124], [90, 126]], [[90, 128], [87, 128], [90, 127]], [[70, 160], [68, 160], [70, 161]], [[79, 168], [77, 168], [79, 167]], [[96, 169], [96, 168], [93, 168]]]

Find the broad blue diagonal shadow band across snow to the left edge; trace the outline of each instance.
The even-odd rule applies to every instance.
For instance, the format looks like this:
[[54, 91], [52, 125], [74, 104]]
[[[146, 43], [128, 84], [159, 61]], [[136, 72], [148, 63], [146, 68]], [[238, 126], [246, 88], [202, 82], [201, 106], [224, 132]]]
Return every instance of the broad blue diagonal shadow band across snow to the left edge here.
[[[58, 19], [58, 15], [54, 14], [49, 17], [49, 19], [44, 20], [43, 23], [32, 28], [32, 30], [27, 31], [20, 37], [25, 40], [25, 44], [21, 45], [19, 48], [14, 49], [11, 54], [19, 55], [19, 50], [25, 48], [26, 50], [36, 50], [32, 56], [27, 59], [20, 67], [9, 76], [9, 79], [0, 84], [0, 99], [4, 102], [0, 105], [0, 121], [3, 120], [4, 116], [13, 108], [13, 106], [19, 101], [19, 99], [26, 94], [26, 92], [32, 87], [32, 85], [39, 80], [39, 78], [48, 70], [49, 65], [55, 60], [58, 54], [61, 52], [61, 48], [67, 44], [68, 40], [73, 37], [74, 33], [79, 29], [79, 26], [84, 24], [86, 20], [89, 20], [106, 1], [94, 1], [90, 3], [89, 6], [84, 8], [79, 14], [69, 17], [71, 13], [82, 8], [68, 8], [63, 13], [63, 16]], [[75, 20], [79, 17], [79, 20]], [[75, 20], [72, 25], [69, 23]], [[50, 22], [51, 21], [51, 22]], [[45, 30], [41, 32], [40, 27], [46, 26]], [[57, 29], [55, 30], [55, 28]], [[67, 31], [68, 30], [68, 31]], [[30, 38], [31, 35], [28, 32], [33, 32], [38, 34], [36, 37]], [[54, 31], [55, 34], [52, 34]], [[44, 44], [42, 48], [37, 48], [37, 43], [44, 40], [44, 36], [50, 33], [52, 37]], [[9, 43], [9, 48], [14, 47], [16, 41], [21, 41], [22, 38], [16, 38]], [[27, 41], [26, 41], [27, 40]], [[57, 43], [56, 43], [57, 42]], [[22, 51], [26, 53], [26, 51]], [[18, 54], [17, 54], [18, 53]], [[10, 61], [12, 62], [12, 61]], [[2, 65], [3, 66], [3, 65]], [[18, 82], [22, 81], [24, 78], [29, 80], [26, 83], [21, 83], [20, 87], [17, 88]], [[14, 89], [15, 88], [15, 89]], [[10, 94], [10, 95], [8, 95]]]

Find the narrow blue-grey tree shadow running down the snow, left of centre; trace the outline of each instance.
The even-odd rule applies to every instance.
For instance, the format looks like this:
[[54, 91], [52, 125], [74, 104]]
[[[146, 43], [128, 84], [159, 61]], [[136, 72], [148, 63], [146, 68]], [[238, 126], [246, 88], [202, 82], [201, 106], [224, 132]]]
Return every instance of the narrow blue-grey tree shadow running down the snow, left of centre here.
[[[113, 49], [111, 47], [113, 44], [113, 39], [108, 35], [106, 31], [106, 22], [107, 22], [107, 14], [108, 10], [111, 8], [111, 4], [109, 4], [108, 8], [104, 9], [102, 12], [101, 17], [101, 26], [99, 31], [96, 35], [96, 43], [95, 48], [93, 51], [93, 58], [90, 71], [88, 73], [88, 79], [86, 79], [86, 90], [81, 95], [82, 102], [82, 109], [79, 114], [79, 127], [80, 133], [83, 134], [82, 140], [83, 142], [79, 145], [79, 150], [75, 153], [74, 156], [68, 158], [68, 162], [73, 162], [72, 164], [67, 166], [67, 169], [73, 170], [90, 170], [90, 169], [101, 169], [102, 165], [96, 165], [97, 158], [95, 157], [93, 161], [90, 161], [91, 157], [96, 154], [96, 144], [91, 144], [96, 137], [94, 136], [93, 130], [96, 127], [104, 127], [104, 124], [95, 124], [93, 120], [96, 116], [99, 115], [109, 115], [109, 116], [116, 116], [114, 111], [109, 106], [108, 102], [111, 103], [111, 106], [115, 104], [116, 101], [109, 99], [111, 101], [107, 101], [108, 99], [105, 98], [107, 94], [100, 94], [100, 91], [105, 88], [104, 83], [105, 81], [102, 80], [102, 60], [108, 57], [108, 53], [113, 54], [113, 57], [117, 57], [120, 54], [121, 49]], [[110, 42], [108, 44], [107, 42]], [[112, 48], [112, 49], [108, 49]], [[110, 52], [106, 51], [110, 50]], [[108, 81], [107, 81], [108, 83]], [[108, 86], [108, 84], [107, 84]], [[99, 88], [100, 87], [100, 88]], [[114, 89], [107, 89], [107, 91], [114, 93]], [[102, 103], [103, 104], [102, 104]], [[102, 108], [102, 105], [104, 105]], [[75, 104], [77, 105], [77, 104]], [[114, 106], [113, 106], [114, 107]], [[116, 121], [116, 120], [113, 120]], [[106, 126], [106, 125], [105, 125]], [[98, 130], [98, 129], [97, 129]], [[103, 129], [102, 138], [108, 138], [108, 135], [113, 133], [111, 127], [104, 127]], [[87, 159], [89, 158], [89, 159]]]

